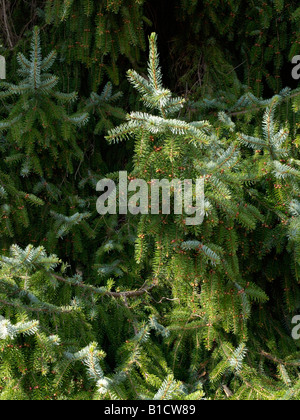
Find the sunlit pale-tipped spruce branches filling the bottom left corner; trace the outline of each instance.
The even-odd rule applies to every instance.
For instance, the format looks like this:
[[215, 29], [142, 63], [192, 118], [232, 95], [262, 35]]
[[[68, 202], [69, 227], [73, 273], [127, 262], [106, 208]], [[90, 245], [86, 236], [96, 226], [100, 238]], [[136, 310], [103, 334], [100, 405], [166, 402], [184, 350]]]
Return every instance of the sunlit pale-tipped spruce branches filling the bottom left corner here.
[[[136, 325], [136, 335], [119, 350], [118, 369], [106, 376], [106, 355], [92, 340], [98, 336], [95, 319], [106, 307], [100, 298], [109, 296], [109, 289], [86, 285], [80, 276], [57, 275], [59, 264], [33, 246], [13, 246], [10, 256], [1, 258], [2, 400], [203, 398], [200, 383], [184, 386], [162, 363], [151, 331], [167, 332], [154, 317]], [[51, 334], [54, 330], [59, 334]]]

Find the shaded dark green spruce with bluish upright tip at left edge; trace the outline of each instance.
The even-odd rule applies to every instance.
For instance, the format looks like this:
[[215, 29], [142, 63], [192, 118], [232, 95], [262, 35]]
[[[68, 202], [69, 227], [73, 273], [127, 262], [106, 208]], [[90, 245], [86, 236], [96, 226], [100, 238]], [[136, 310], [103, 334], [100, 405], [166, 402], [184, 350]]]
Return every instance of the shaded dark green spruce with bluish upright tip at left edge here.
[[[79, 145], [78, 130], [86, 125], [89, 110], [100, 112], [100, 106], [97, 131], [101, 125], [105, 127], [107, 113], [116, 112], [108, 102], [116, 98], [110, 98], [107, 86], [102, 97], [94, 94], [94, 103], [81, 104], [81, 110], [74, 112], [77, 93], [57, 90], [59, 79], [49, 73], [56, 55], [51, 51], [42, 57], [39, 29], [35, 28], [30, 57], [18, 55], [22, 81], [2, 83], [6, 118], [0, 122], [5, 156], [1, 168], [1, 225], [4, 240], [8, 238], [6, 249], [11, 244], [9, 238], [14, 238], [24, 245], [43, 243], [52, 251], [72, 231], [76, 241], [70, 240], [68, 252], [79, 253], [82, 235], [95, 236], [87, 223], [90, 213], [84, 211], [88, 199], [80, 199], [77, 194], [76, 175], [89, 147], [84, 140]], [[84, 139], [84, 131], [81, 133]], [[36, 219], [39, 228], [32, 230]], [[77, 245], [75, 250], [73, 243]]]

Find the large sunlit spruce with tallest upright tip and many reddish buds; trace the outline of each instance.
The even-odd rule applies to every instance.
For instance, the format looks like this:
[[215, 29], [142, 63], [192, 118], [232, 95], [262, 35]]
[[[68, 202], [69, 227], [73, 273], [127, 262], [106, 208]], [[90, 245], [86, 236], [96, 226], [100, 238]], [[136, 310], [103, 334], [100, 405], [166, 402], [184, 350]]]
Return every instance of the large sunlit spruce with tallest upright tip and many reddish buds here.
[[[275, 300], [288, 323], [299, 302], [297, 275], [292, 280], [288, 274], [291, 269], [297, 273], [298, 266], [292, 251], [297, 249], [295, 231], [291, 237], [289, 226], [297, 223], [299, 172], [297, 161], [290, 158], [289, 131], [275, 122], [284, 97], [269, 101], [261, 138], [236, 132], [224, 113], [216, 131], [206, 121], [171, 118], [183, 101], [163, 88], [155, 34], [150, 37], [148, 69], [147, 79], [134, 71], [128, 78], [152, 112], [132, 112], [108, 140], [134, 136], [132, 177], [148, 182], [163, 177], [205, 179], [206, 218], [201, 226], [188, 227], [182, 216], [172, 215], [141, 216], [138, 225], [137, 262], [149, 259], [151, 250], [151, 278], [169, 290], [173, 302], [165, 322], [171, 331], [166, 342], [175, 376], [184, 375], [187, 381], [188, 372], [196, 378], [199, 366], [209, 359], [207, 382], [217, 397], [224, 395], [224, 387], [233, 389], [233, 398], [297, 394], [292, 391], [297, 389], [297, 362], [288, 362], [297, 357], [297, 343], [280, 322], [279, 309], [270, 317]], [[282, 260], [284, 267], [279, 268], [276, 261]], [[284, 299], [267, 287], [267, 282], [275, 282], [278, 290], [276, 279], [285, 279]], [[278, 334], [281, 345], [275, 351], [271, 343]], [[276, 355], [269, 355], [269, 346]], [[275, 377], [270, 361], [278, 369]]]

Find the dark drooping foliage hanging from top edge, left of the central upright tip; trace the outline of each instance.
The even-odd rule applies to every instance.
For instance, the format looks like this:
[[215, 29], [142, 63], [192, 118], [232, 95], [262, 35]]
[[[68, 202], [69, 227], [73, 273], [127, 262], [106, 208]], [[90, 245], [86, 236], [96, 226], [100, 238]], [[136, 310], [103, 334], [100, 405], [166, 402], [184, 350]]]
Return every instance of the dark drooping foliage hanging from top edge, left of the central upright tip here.
[[89, 69], [93, 90], [105, 76], [119, 84], [120, 55], [132, 63], [139, 61], [140, 51], [146, 48], [144, 25], [149, 23], [143, 15], [143, 3], [144, 0], [46, 1], [46, 22], [59, 29], [56, 39], [62, 59], [67, 64], [84, 64]]

